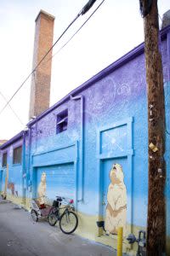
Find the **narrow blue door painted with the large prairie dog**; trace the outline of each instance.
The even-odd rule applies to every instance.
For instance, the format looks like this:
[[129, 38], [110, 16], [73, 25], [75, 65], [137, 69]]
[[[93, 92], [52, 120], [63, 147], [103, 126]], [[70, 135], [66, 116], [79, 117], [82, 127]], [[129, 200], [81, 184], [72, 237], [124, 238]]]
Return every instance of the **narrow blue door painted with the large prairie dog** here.
[[102, 160], [102, 215], [105, 230], [117, 233], [119, 226], [126, 233], [127, 223], [127, 157]]

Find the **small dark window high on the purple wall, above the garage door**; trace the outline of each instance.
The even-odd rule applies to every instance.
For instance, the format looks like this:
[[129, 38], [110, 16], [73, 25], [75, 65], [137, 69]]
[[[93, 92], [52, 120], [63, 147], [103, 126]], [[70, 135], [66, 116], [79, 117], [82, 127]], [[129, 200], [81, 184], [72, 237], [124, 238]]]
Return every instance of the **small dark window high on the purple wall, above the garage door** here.
[[57, 114], [57, 133], [67, 130], [68, 125], [68, 109]]

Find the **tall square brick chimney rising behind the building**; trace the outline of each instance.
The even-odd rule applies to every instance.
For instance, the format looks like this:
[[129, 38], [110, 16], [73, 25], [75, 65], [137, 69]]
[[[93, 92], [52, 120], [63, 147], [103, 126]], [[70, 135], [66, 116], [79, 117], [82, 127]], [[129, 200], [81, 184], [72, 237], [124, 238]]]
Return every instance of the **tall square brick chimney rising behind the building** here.
[[[32, 69], [53, 45], [54, 16], [41, 10], [37, 15]], [[29, 119], [49, 108], [52, 51], [42, 61], [31, 77], [31, 98]]]

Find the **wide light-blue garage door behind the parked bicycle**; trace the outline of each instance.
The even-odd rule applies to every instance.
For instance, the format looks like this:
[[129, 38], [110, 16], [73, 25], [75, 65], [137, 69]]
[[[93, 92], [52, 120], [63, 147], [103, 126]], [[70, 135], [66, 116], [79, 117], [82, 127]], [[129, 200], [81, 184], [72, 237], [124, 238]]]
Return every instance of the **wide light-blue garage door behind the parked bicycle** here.
[[[48, 199], [54, 200], [56, 195], [69, 197], [75, 200], [75, 171], [73, 164], [38, 167], [36, 171], [37, 195], [45, 183], [44, 191]], [[41, 183], [45, 175], [45, 181]], [[38, 197], [38, 196], [37, 196]]]

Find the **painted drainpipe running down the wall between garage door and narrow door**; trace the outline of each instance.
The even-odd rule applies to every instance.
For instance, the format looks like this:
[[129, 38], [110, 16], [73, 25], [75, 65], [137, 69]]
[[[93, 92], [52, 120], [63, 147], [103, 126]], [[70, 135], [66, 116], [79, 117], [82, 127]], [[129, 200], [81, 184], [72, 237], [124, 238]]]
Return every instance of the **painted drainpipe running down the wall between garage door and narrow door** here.
[[[80, 166], [80, 171], [78, 172], [78, 182], [81, 178], [81, 184], [82, 184], [82, 189], [81, 189], [81, 193], [79, 193], [79, 198], [77, 199], [77, 201], [84, 201], [84, 97], [81, 96], [71, 96], [71, 100], [73, 101], [77, 101], [77, 100], [81, 100], [81, 143], [80, 143], [80, 162], [81, 162], [81, 166]], [[81, 173], [81, 176], [80, 174]]]

